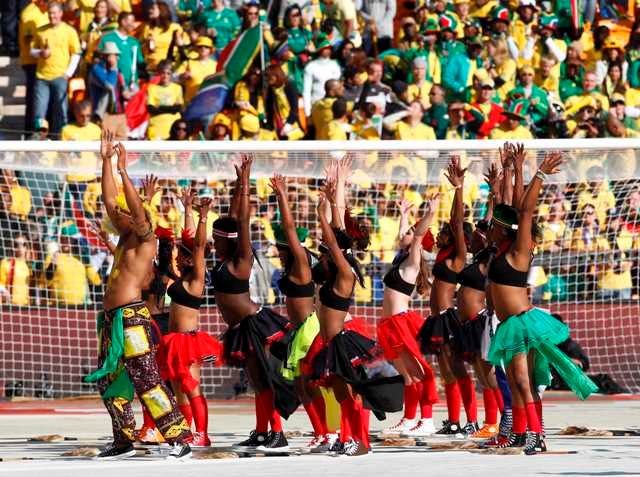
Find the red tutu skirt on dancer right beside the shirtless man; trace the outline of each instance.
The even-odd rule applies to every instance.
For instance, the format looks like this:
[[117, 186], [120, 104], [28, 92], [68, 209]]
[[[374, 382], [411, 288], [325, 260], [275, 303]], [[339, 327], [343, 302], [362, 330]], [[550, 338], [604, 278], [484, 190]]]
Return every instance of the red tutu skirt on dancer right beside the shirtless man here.
[[191, 375], [191, 365], [213, 361], [221, 366], [221, 358], [222, 344], [204, 331], [164, 335], [158, 350], [162, 379], [180, 382], [182, 391], [187, 394], [199, 384]]

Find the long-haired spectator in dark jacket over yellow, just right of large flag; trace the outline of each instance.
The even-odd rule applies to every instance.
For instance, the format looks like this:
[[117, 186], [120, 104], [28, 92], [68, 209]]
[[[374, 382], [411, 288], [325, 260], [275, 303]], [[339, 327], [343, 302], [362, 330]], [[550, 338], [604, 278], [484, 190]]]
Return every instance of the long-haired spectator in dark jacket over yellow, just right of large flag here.
[[304, 131], [300, 127], [298, 114], [300, 94], [295, 84], [287, 79], [287, 75], [277, 64], [269, 65], [265, 75], [268, 85], [265, 100], [268, 128], [275, 131], [280, 139], [302, 139]]

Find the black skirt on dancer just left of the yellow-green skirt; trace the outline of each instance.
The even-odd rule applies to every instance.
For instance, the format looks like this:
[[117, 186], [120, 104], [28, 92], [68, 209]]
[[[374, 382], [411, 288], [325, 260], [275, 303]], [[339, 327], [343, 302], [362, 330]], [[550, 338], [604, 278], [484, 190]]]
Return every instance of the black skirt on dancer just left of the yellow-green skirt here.
[[257, 343], [262, 346], [276, 343], [285, 337], [289, 325], [289, 321], [275, 311], [260, 308], [255, 315], [245, 318], [225, 332], [225, 363], [235, 367], [244, 366], [247, 355], [256, 352]]

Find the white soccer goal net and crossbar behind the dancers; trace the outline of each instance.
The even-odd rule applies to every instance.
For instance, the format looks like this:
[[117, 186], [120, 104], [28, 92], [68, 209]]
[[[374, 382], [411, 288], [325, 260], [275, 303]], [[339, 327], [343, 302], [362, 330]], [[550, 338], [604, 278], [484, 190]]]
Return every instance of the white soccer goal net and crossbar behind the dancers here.
[[[151, 206], [159, 225], [177, 237], [183, 226], [178, 196], [191, 186], [215, 201], [213, 221], [225, 214], [240, 152], [255, 154], [251, 190], [251, 240], [259, 257], [251, 294], [279, 308], [280, 264], [273, 225], [278, 207], [268, 186], [274, 173], [291, 178], [290, 202], [298, 226], [310, 230], [316, 249], [316, 203], [324, 170], [346, 153], [352, 215], [366, 221], [371, 245], [358, 258], [365, 287], [352, 314], [374, 329], [381, 315], [382, 277], [397, 247], [400, 208], [412, 204], [411, 221], [428, 195], [439, 192], [434, 231], [448, 220], [453, 188], [443, 175], [452, 155], [467, 168], [467, 220], [484, 217], [488, 185], [483, 174], [499, 165], [492, 141], [438, 142], [130, 142], [129, 170], [138, 184], [160, 178]], [[589, 374], [608, 374], [622, 388], [640, 391], [640, 142], [537, 140], [525, 142], [526, 178], [545, 153], [566, 158], [545, 183], [538, 201], [541, 238], [529, 282], [533, 302], [557, 313], [589, 358]], [[98, 143], [0, 142], [0, 392], [4, 396], [63, 397], [95, 393], [82, 377], [96, 365], [96, 314], [101, 310], [112, 257], [100, 229], [117, 240], [101, 205]], [[115, 161], [115, 158], [114, 158]], [[115, 163], [114, 163], [115, 166]], [[116, 175], [117, 177], [117, 175]], [[208, 227], [209, 233], [211, 227]], [[429, 260], [434, 254], [427, 255]], [[428, 287], [428, 284], [427, 284]], [[209, 294], [209, 292], [207, 292]], [[427, 296], [415, 307], [428, 313]], [[201, 327], [220, 335], [211, 296]], [[167, 299], [168, 300], [168, 299]], [[168, 302], [167, 302], [168, 305]], [[584, 362], [582, 363], [585, 364]], [[237, 370], [207, 367], [209, 395], [243, 389]]]

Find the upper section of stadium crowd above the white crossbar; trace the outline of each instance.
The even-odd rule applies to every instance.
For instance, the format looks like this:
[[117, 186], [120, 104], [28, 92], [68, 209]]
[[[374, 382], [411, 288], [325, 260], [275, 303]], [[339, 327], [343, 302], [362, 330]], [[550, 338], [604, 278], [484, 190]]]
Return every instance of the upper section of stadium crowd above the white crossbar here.
[[[25, 74], [24, 127], [38, 138], [97, 139], [100, 122], [149, 139], [638, 135], [633, 0], [7, 0], [3, 9], [3, 48]], [[234, 57], [245, 62], [234, 64], [241, 74], [222, 111], [180, 121], [257, 25], [259, 46]]]

